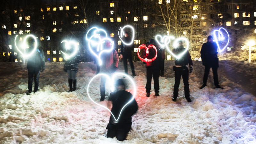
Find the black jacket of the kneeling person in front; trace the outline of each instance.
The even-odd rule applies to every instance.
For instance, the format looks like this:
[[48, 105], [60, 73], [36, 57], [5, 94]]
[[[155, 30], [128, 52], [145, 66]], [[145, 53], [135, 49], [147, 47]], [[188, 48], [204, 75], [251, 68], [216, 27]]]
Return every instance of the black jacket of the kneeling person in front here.
[[[109, 95], [109, 100], [112, 101], [112, 109], [111, 112], [117, 119], [119, 116], [119, 113], [121, 109], [124, 107], [124, 105], [131, 100], [132, 93], [127, 92], [125, 90], [112, 92]], [[138, 104], [135, 99], [132, 100], [123, 110], [118, 123], [115, 123], [114, 117], [111, 115], [109, 119], [109, 124], [114, 125], [122, 125], [125, 123], [132, 123], [132, 115], [134, 115], [138, 110]]]

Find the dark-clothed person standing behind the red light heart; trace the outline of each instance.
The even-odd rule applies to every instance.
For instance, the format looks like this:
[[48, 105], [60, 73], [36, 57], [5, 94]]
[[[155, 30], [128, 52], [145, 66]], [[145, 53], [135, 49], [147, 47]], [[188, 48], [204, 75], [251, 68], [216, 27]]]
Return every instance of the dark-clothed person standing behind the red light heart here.
[[[155, 96], [159, 96], [159, 72], [162, 68], [162, 55], [160, 52], [160, 47], [156, 44], [156, 41], [154, 39], [149, 39], [149, 44], [153, 44], [156, 46], [157, 50], [157, 57], [156, 60], [152, 62], [146, 62], [146, 68], [147, 68], [147, 84], [146, 84], [146, 96], [150, 96], [150, 90], [151, 90], [151, 81], [152, 81], [152, 75], [154, 80], [154, 89], [155, 89]], [[148, 56], [146, 58], [152, 59], [156, 55], [156, 51], [152, 48], [150, 48], [148, 53]], [[146, 53], [146, 52], [145, 52]], [[144, 55], [146, 55], [144, 53]]]

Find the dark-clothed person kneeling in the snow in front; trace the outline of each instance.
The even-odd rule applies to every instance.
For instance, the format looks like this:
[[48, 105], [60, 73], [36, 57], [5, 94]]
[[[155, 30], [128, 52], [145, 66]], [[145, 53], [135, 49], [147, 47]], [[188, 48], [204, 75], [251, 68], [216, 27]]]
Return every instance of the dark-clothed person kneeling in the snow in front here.
[[[118, 79], [116, 82], [116, 91], [110, 93], [109, 100], [112, 101], [111, 112], [117, 119], [120, 110], [124, 105], [131, 100], [132, 93], [125, 91], [124, 79]], [[125, 140], [127, 133], [131, 130], [132, 126], [132, 115], [138, 110], [138, 104], [136, 100], [133, 100], [124, 108], [119, 120], [116, 122], [114, 117], [111, 115], [107, 126], [108, 138], [114, 138], [117, 140]]]

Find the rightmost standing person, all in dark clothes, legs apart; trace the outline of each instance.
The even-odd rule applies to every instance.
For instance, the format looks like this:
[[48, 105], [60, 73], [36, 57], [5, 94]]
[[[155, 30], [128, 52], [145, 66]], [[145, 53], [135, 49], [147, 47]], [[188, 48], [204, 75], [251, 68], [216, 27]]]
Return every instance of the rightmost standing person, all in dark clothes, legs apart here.
[[218, 80], [218, 68], [219, 68], [219, 59], [218, 59], [218, 46], [215, 42], [213, 42], [213, 37], [207, 37], [208, 42], [203, 44], [201, 49], [201, 58], [204, 66], [204, 78], [203, 85], [200, 89], [204, 88], [207, 85], [207, 79], [210, 72], [210, 68], [212, 68], [214, 85], [216, 88], [221, 88]]

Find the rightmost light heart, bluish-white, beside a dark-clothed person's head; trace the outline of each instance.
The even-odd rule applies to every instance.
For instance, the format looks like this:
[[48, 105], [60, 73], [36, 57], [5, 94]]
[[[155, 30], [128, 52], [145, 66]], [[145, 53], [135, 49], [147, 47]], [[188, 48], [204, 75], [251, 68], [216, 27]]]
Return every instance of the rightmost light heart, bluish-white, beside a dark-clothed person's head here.
[[[228, 36], [228, 41], [227, 41], [227, 44], [221, 49], [220, 48], [220, 44], [219, 44], [219, 41], [223, 41], [225, 40], [225, 36], [223, 35], [223, 33], [220, 31], [221, 29], [223, 29], [226, 33], [227, 33], [227, 36]], [[218, 32], [218, 37], [216, 36], [216, 32]], [[225, 28], [219, 28], [219, 30], [214, 30], [213, 31], [213, 39], [214, 41], [216, 42], [217, 46], [218, 46], [218, 51], [219, 52], [222, 52], [227, 46], [228, 46], [228, 43], [229, 43], [229, 34], [228, 34], [228, 31], [225, 29]]]

